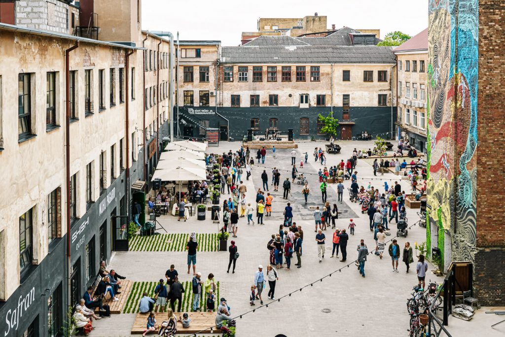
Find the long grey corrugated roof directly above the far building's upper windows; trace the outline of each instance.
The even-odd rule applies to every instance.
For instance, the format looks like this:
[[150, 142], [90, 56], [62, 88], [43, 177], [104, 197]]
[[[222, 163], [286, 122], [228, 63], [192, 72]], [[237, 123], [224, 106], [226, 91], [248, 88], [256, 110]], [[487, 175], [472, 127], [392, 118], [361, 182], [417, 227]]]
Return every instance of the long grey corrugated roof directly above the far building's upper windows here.
[[375, 45], [222, 47], [220, 62], [233, 64], [396, 63], [391, 47]]

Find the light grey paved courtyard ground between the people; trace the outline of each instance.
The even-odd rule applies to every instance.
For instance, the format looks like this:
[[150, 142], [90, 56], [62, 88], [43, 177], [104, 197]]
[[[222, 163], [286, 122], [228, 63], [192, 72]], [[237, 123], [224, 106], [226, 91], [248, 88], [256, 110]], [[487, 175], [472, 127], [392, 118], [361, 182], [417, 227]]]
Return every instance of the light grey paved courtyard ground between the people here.
[[[336, 165], [340, 159], [347, 159], [354, 147], [373, 147], [373, 142], [350, 142], [341, 141], [341, 154], [328, 154], [327, 165]], [[234, 239], [238, 247], [240, 257], [237, 260], [237, 267], [234, 274], [226, 273], [228, 266], [228, 252], [198, 252], [196, 270], [202, 273], [202, 279], [214, 273], [216, 280], [220, 282], [221, 297], [225, 297], [231, 307], [231, 315], [236, 316], [251, 310], [249, 306], [249, 289], [254, 280], [254, 274], [259, 264], [265, 267], [269, 263], [269, 252], [266, 248], [270, 236], [279, 231], [279, 225], [283, 222], [282, 212], [287, 201], [293, 206], [293, 220], [301, 225], [304, 231], [302, 267], [291, 270], [281, 269], [278, 271], [279, 280], [275, 289], [275, 298], [292, 293], [291, 296], [283, 298], [280, 302], [274, 301], [269, 307], [262, 307], [254, 313], [248, 313], [241, 319], [237, 318], [238, 336], [275, 336], [283, 333], [288, 337], [292, 336], [317, 336], [317, 335], [339, 335], [339, 336], [401, 336], [407, 335], [409, 327], [409, 315], [406, 310], [406, 301], [410, 297], [412, 287], [417, 284], [415, 273], [415, 263], [411, 264], [411, 271], [406, 273], [405, 265], [399, 262], [399, 272], [393, 272], [391, 260], [387, 253], [389, 242], [386, 243], [385, 256], [382, 260], [373, 254], [368, 256], [365, 265], [366, 277], [361, 277], [355, 267], [354, 260], [357, 258], [356, 247], [360, 239], [365, 239], [369, 251], [375, 248], [373, 233], [369, 230], [368, 215], [361, 213], [361, 207], [357, 203], [350, 203], [347, 191], [344, 192], [343, 203], [338, 203], [339, 218], [337, 228], [347, 228], [349, 218], [353, 218], [357, 224], [354, 236], [349, 235], [347, 245], [347, 262], [339, 262], [340, 258], [330, 258], [332, 248], [331, 226], [325, 231], [326, 234], [326, 255], [322, 263], [318, 263], [317, 247], [314, 233], [314, 220], [312, 218], [312, 206], [319, 205], [322, 209], [321, 192], [317, 174], [321, 164], [314, 161], [312, 155], [314, 147], [322, 146], [322, 142], [301, 142], [298, 144], [296, 163], [299, 166], [303, 153], [309, 153], [308, 164], [304, 168], [298, 168], [309, 179], [311, 195], [309, 202], [305, 205], [304, 198], [300, 191], [301, 185], [292, 184], [291, 194], [288, 200], [282, 198], [282, 181], [286, 177], [291, 177], [291, 155], [288, 149], [277, 150], [277, 157], [272, 158], [271, 150], [267, 151], [265, 164], [255, 164], [252, 169], [251, 178], [243, 181], [247, 186], [247, 202], [255, 204], [256, 190], [261, 188], [260, 175], [263, 169], [266, 170], [271, 180], [271, 167], [275, 166], [282, 170], [279, 192], [273, 192], [271, 181], [269, 182], [270, 193], [272, 193], [273, 211], [271, 217], [264, 217], [264, 226], [258, 223], [255, 226], [247, 225], [246, 218], [239, 219], [237, 236]], [[224, 143], [219, 148], [209, 148], [209, 152], [222, 153], [228, 150], [236, 150], [240, 143]], [[254, 155], [255, 151], [251, 151]], [[262, 168], [266, 166], [268, 168]], [[356, 171], [358, 171], [359, 185], [367, 187], [369, 182], [372, 186], [383, 190], [384, 182], [394, 185], [394, 181], [399, 181], [400, 177], [391, 173], [377, 177], [373, 175], [372, 167], [369, 163], [358, 160]], [[364, 179], [361, 179], [364, 178]], [[350, 186], [350, 180], [344, 181], [345, 188]], [[336, 184], [329, 184], [328, 201], [330, 204], [337, 202]], [[407, 193], [410, 184], [401, 181], [402, 190]], [[221, 203], [223, 195], [221, 197]], [[409, 226], [418, 220], [416, 210], [407, 208]], [[187, 222], [178, 222], [177, 218], [165, 215], [159, 218], [163, 227], [169, 233], [216, 233], [218, 224], [210, 220], [210, 212], [207, 213], [207, 220], [197, 221], [196, 216], [192, 216]], [[394, 222], [394, 221], [393, 221]], [[222, 226], [220, 224], [219, 226]], [[392, 239], [396, 233], [395, 224], [390, 224], [392, 235], [386, 240]], [[414, 248], [414, 243], [424, 242], [425, 229], [417, 226], [409, 230], [408, 238], [397, 238], [400, 247], [409, 241]], [[229, 244], [229, 241], [228, 241]], [[416, 251], [414, 251], [416, 253]], [[419, 254], [419, 252], [417, 252]], [[165, 270], [170, 264], [175, 264], [182, 282], [190, 281], [191, 274], [187, 274], [186, 252], [116, 252], [110, 262], [110, 267], [118, 270], [122, 275], [133, 281], [153, 282], [164, 278]], [[339, 255], [341, 256], [341, 255]], [[417, 259], [415, 262], [417, 262]], [[295, 260], [294, 258], [292, 261]], [[293, 264], [295, 262], [292, 262]], [[347, 264], [350, 264], [347, 267]], [[344, 267], [341, 271], [333, 273], [331, 277], [326, 277], [323, 282], [317, 282], [321, 277]], [[431, 270], [435, 269], [430, 265], [426, 282], [436, 280], [441, 282], [440, 277], [436, 277]], [[266, 271], [266, 269], [264, 269]], [[313, 283], [311, 287], [310, 284]], [[300, 292], [299, 289], [303, 288]], [[268, 288], [268, 285], [267, 287]], [[298, 290], [298, 291], [297, 291]], [[186, 289], [191, 291], [191, 289]], [[271, 302], [267, 299], [267, 290], [263, 292], [265, 304]], [[260, 306], [257, 301], [256, 308]], [[158, 322], [165, 317], [160, 313], [157, 315]], [[96, 328], [91, 336], [127, 336], [130, 335], [131, 326], [134, 321], [134, 314], [118, 314], [112, 318], [96, 321]], [[454, 319], [452, 320], [452, 322]], [[459, 322], [458, 324], [467, 324]], [[450, 331], [450, 326], [448, 327]], [[207, 334], [208, 335], [208, 334]], [[456, 336], [457, 334], [453, 334]], [[492, 335], [492, 332], [488, 334]]]

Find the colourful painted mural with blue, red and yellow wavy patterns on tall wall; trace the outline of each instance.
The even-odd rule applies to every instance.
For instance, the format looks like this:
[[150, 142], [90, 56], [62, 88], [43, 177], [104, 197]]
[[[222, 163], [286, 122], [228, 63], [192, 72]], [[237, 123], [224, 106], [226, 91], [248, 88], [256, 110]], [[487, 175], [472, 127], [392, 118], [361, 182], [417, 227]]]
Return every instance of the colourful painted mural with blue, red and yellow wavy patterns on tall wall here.
[[438, 246], [446, 261], [473, 261], [479, 1], [428, 6], [427, 246]]

